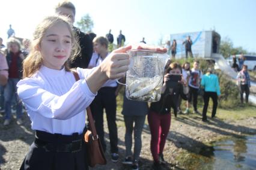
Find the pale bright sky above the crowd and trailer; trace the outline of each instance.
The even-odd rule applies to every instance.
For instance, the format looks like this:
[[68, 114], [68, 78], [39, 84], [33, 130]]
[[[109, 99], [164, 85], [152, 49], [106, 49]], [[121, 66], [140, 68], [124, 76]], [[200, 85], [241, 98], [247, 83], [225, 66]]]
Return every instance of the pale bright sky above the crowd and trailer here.
[[[58, 0], [2, 0], [0, 37], [6, 42], [9, 25], [16, 37], [31, 38], [44, 16], [54, 13]], [[145, 37], [147, 44], [166, 41], [170, 34], [215, 29], [234, 47], [256, 52], [256, 1], [254, 0], [73, 0], [76, 21], [89, 14], [93, 32], [105, 36], [122, 30], [126, 43]]]

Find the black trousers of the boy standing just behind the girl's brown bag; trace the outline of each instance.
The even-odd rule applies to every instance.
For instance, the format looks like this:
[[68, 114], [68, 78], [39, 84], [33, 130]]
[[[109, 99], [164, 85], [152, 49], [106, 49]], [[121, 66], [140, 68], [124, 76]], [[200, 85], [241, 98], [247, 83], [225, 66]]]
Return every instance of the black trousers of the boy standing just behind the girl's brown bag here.
[[103, 128], [103, 110], [106, 111], [106, 119], [108, 122], [109, 140], [111, 145], [111, 153], [118, 152], [118, 136], [117, 124], [115, 123], [117, 116], [117, 100], [115, 96], [116, 87], [102, 87], [91, 103], [91, 112], [95, 121], [97, 134], [102, 143], [103, 150], [106, 151], [106, 142], [104, 138]]

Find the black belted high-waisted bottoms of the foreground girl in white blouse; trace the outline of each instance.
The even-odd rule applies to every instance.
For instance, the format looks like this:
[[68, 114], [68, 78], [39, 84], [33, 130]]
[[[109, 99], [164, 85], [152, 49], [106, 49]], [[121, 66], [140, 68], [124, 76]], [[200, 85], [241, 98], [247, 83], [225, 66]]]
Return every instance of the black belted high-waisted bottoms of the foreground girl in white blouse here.
[[[83, 139], [84, 133], [78, 135], [61, 135], [51, 134], [43, 131], [36, 131], [35, 141], [29, 148], [23, 160], [20, 170], [23, 169], [36, 169], [36, 170], [85, 170], [88, 169], [87, 160], [85, 159], [85, 142]], [[81, 140], [81, 150], [76, 148], [72, 150], [67, 144], [73, 141]], [[38, 142], [40, 141], [40, 142]], [[46, 145], [44, 147], [44, 144]], [[62, 145], [59, 145], [62, 144]], [[57, 147], [58, 145], [58, 147]], [[68, 145], [70, 146], [70, 145]], [[78, 145], [79, 146], [79, 145]], [[58, 149], [57, 149], [58, 148]], [[59, 151], [59, 150], [72, 150], [72, 151]]]

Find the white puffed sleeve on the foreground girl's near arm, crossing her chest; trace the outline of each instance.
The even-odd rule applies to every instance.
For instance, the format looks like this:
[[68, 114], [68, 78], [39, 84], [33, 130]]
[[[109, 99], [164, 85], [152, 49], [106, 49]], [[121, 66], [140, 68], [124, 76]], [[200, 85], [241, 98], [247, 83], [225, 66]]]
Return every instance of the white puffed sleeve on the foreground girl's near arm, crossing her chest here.
[[[85, 72], [83, 75], [86, 76]], [[49, 119], [70, 119], [85, 110], [96, 96], [90, 91], [84, 78], [76, 81], [71, 89], [61, 96], [45, 90], [43, 82], [37, 78], [20, 80], [17, 87], [19, 98], [26, 108]]]

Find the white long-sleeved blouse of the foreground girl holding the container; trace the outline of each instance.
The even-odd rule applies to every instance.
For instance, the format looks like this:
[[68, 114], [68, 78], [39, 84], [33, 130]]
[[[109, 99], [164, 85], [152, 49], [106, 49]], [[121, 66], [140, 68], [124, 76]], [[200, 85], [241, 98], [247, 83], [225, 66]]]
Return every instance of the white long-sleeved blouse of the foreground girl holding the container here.
[[17, 93], [26, 107], [33, 130], [72, 135], [85, 127], [85, 108], [97, 94], [89, 89], [85, 77], [93, 69], [77, 68], [81, 80], [72, 72], [41, 66], [32, 77], [17, 83]]

